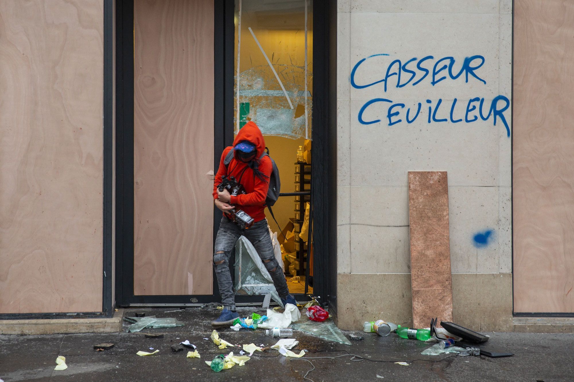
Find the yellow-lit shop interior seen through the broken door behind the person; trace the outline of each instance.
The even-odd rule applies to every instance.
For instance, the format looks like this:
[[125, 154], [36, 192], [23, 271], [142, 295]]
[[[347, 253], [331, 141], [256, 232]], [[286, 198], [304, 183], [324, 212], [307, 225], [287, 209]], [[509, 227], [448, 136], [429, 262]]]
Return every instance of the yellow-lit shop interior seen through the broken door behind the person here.
[[248, 121], [259, 126], [281, 193], [290, 193], [273, 205], [275, 219], [266, 216], [292, 294], [313, 292], [312, 52], [312, 0], [236, 0], [235, 133]]

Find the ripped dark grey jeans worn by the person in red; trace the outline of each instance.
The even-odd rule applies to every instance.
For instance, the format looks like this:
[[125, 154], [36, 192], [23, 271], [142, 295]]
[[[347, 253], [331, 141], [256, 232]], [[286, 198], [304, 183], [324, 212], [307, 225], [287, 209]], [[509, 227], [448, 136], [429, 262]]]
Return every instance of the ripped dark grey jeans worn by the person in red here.
[[[242, 230], [237, 227], [233, 221], [224, 216], [219, 225], [214, 251], [214, 268], [223, 306], [227, 309], [235, 310], [235, 295], [233, 293], [233, 282], [229, 271], [229, 256], [235, 247], [237, 239], [242, 235], [251, 241], [259, 258], [263, 260], [265, 268], [269, 271], [273, 279], [273, 284], [275, 284], [275, 289], [279, 297], [286, 298], [289, 295], [289, 289], [283, 270], [275, 259], [273, 242], [269, 235], [269, 228], [267, 228], [267, 219], [260, 220], [254, 223], [251, 228]], [[221, 261], [223, 261], [223, 263], [216, 264]]]

